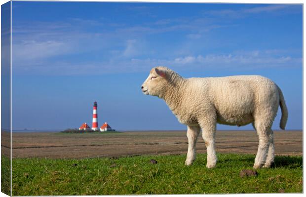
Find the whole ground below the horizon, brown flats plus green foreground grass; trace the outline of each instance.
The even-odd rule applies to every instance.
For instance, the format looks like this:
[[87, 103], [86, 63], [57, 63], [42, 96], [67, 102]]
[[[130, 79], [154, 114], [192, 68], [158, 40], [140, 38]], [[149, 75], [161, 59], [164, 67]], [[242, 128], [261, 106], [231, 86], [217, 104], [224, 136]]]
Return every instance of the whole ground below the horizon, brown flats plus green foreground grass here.
[[[195, 163], [184, 165], [186, 131], [13, 132], [12, 143], [13, 196], [303, 192], [301, 131], [275, 131], [274, 166], [243, 178], [254, 164], [255, 131], [217, 131], [214, 169], [206, 168], [201, 138]], [[10, 155], [9, 143], [1, 154]]]

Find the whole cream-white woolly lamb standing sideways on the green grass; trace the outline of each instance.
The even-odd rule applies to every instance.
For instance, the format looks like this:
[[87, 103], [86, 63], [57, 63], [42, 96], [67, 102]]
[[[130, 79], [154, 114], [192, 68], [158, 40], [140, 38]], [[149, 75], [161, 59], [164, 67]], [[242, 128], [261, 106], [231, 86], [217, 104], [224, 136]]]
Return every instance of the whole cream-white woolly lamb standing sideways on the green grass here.
[[179, 122], [187, 125], [188, 152], [185, 164], [195, 160], [195, 144], [200, 130], [207, 148], [207, 168], [215, 167], [216, 124], [244, 126], [252, 123], [259, 137], [254, 168], [274, 162], [272, 123], [280, 105], [280, 128], [285, 129], [288, 110], [280, 88], [259, 75], [183, 78], [175, 71], [152, 68], [142, 85], [145, 95], [167, 103]]

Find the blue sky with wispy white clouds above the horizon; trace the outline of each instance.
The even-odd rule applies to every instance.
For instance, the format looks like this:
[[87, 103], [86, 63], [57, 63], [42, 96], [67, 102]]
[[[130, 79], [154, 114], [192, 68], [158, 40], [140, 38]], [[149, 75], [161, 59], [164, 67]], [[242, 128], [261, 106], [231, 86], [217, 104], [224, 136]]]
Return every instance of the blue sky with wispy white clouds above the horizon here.
[[[12, 3], [13, 129], [185, 129], [141, 92], [153, 66], [183, 77], [260, 74], [282, 89], [287, 129], [302, 129], [302, 5]], [[35, 11], [34, 11], [35, 10]], [[279, 129], [278, 116], [273, 129]], [[219, 130], [252, 127], [218, 125]]]

